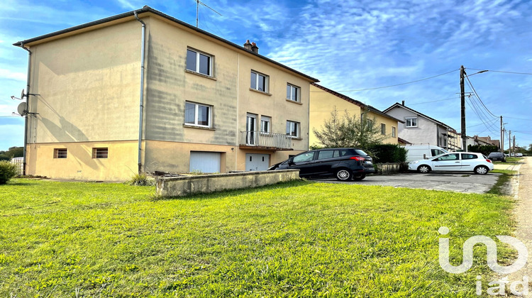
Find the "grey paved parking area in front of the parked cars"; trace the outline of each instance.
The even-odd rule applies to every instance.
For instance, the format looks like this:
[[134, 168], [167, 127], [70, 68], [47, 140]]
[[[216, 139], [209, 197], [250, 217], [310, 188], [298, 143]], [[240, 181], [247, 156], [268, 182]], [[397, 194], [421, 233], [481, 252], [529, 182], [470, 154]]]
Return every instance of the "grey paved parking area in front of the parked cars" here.
[[361, 185], [382, 185], [445, 190], [450, 192], [469, 192], [483, 194], [497, 182], [499, 175], [489, 172], [487, 175], [475, 175], [469, 172], [420, 174], [417, 172], [397, 175], [367, 176], [362, 181], [339, 182], [334, 178], [313, 180], [315, 182], [347, 183]]

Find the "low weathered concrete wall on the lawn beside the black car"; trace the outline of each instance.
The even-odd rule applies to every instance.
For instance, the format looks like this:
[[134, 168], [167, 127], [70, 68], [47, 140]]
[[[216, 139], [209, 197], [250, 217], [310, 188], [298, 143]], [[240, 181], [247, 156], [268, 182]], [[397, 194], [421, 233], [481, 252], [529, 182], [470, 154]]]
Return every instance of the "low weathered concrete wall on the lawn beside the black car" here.
[[157, 178], [157, 195], [183, 197], [189, 194], [219, 192], [226, 189], [260, 187], [299, 180], [299, 170], [239, 172], [218, 175]]

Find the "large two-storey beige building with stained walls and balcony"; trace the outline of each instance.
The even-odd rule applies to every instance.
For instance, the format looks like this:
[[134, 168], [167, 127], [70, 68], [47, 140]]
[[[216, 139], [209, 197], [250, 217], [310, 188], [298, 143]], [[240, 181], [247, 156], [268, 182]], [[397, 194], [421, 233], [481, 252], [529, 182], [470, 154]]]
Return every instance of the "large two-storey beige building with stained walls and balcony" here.
[[318, 80], [255, 43], [144, 6], [14, 45], [31, 51], [30, 175], [265, 170], [309, 148]]

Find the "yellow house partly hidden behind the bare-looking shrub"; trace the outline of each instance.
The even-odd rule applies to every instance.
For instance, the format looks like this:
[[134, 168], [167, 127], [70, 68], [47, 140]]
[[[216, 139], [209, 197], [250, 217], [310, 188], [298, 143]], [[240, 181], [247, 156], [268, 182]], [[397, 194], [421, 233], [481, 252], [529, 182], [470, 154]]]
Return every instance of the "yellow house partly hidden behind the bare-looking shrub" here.
[[379, 109], [373, 106], [364, 104], [358, 100], [352, 99], [331, 89], [311, 83], [310, 92], [310, 144], [319, 145], [319, 140], [314, 134], [314, 129], [319, 131], [323, 123], [331, 118], [331, 112], [335, 109], [338, 111], [338, 116], [343, 116], [345, 111], [348, 111], [350, 116], [360, 118], [362, 114], [373, 120], [380, 128], [382, 136], [384, 136], [383, 143], [398, 144], [397, 127], [403, 121], [394, 118], [393, 116], [384, 114]]

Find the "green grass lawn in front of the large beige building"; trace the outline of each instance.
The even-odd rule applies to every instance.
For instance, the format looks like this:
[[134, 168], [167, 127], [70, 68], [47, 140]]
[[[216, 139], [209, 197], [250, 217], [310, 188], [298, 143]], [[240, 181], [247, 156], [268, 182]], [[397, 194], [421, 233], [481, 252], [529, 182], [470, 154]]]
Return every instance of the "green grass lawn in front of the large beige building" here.
[[485, 250], [472, 270], [444, 272], [438, 228], [450, 228], [455, 265], [466, 238], [512, 229], [511, 199], [494, 194], [304, 181], [153, 193], [0, 185], [0, 297], [477, 297]]

